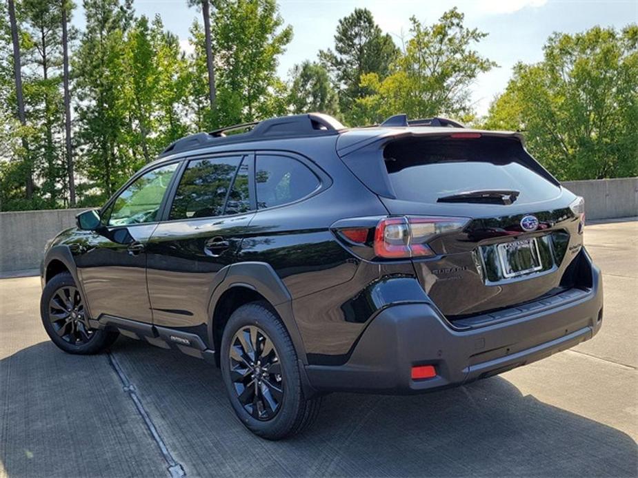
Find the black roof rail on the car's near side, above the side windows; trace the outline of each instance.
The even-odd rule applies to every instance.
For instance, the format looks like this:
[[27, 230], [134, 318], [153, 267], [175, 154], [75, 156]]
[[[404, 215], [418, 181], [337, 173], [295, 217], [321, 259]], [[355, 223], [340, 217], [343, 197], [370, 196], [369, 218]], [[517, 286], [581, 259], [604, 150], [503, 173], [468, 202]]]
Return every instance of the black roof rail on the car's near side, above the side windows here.
[[[159, 158], [190, 149], [223, 143], [239, 143], [241, 141], [257, 141], [278, 137], [312, 136], [315, 134], [337, 134], [343, 128], [345, 126], [327, 114], [308, 113], [279, 116], [278, 118], [215, 129], [215, 131], [209, 133], [196, 133], [185, 136], [164, 149], [159, 154]], [[248, 132], [226, 134], [238, 129], [248, 129]]]

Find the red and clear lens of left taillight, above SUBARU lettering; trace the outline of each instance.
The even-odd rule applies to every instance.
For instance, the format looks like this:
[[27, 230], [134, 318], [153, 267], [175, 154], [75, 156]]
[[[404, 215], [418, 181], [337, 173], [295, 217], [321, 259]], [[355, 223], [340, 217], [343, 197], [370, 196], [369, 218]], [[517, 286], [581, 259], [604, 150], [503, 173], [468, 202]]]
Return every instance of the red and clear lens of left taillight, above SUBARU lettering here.
[[388, 259], [434, 256], [428, 242], [441, 234], [460, 231], [468, 220], [419, 216], [381, 219], [375, 230], [375, 256]]

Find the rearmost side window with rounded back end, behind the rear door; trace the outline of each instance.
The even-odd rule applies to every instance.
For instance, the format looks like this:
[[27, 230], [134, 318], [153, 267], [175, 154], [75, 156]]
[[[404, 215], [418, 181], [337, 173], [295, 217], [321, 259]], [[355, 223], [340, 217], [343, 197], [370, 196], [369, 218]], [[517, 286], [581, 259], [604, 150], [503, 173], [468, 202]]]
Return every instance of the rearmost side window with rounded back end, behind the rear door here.
[[305, 198], [319, 187], [319, 178], [288, 156], [264, 155], [257, 157], [255, 183], [257, 207], [264, 209]]

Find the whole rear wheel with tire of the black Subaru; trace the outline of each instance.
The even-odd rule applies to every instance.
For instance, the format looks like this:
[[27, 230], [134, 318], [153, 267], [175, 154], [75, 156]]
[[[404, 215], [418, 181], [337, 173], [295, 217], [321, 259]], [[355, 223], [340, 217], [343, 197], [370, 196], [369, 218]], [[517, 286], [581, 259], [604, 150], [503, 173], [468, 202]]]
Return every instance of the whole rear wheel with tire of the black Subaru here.
[[[242, 339], [246, 346], [242, 345]], [[250, 349], [248, 340], [256, 357], [252, 368], [253, 357], [243, 353]], [[219, 357], [230, 404], [239, 421], [255, 435], [270, 440], [290, 437], [308, 428], [317, 418], [321, 397], [304, 397], [295, 347], [286, 327], [267, 302], [245, 304], [230, 315]], [[259, 376], [259, 357], [263, 360], [262, 375], [261, 382], [255, 386], [252, 377], [254, 373]], [[270, 399], [264, 388], [270, 393]], [[275, 402], [277, 406], [273, 407]]]

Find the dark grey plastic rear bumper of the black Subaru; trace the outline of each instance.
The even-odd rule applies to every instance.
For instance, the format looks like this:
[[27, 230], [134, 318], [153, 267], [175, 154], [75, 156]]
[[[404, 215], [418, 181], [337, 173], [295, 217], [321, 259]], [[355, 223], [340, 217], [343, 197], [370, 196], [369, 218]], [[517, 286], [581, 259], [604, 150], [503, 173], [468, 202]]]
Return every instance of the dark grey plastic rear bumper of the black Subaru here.
[[[601, 274], [566, 300], [539, 301], [509, 320], [473, 329], [450, 326], [425, 303], [390, 306], [372, 319], [346, 364], [308, 365], [317, 391], [419, 393], [457, 386], [535, 362], [592, 338], [602, 322]], [[432, 364], [437, 376], [412, 380], [412, 366]]]

